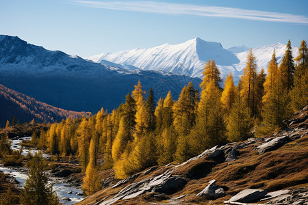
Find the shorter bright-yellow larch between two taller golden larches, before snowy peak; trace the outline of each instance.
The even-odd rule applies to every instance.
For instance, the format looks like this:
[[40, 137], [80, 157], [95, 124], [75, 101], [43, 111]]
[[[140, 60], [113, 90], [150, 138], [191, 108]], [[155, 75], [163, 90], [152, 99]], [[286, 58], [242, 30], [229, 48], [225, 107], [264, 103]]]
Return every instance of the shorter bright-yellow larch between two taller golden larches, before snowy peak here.
[[221, 95], [221, 101], [222, 101], [222, 107], [226, 111], [226, 113], [229, 113], [231, 110], [231, 106], [235, 100], [236, 91], [235, 91], [235, 85], [233, 82], [233, 76], [230, 72], [224, 81], [224, 91]]

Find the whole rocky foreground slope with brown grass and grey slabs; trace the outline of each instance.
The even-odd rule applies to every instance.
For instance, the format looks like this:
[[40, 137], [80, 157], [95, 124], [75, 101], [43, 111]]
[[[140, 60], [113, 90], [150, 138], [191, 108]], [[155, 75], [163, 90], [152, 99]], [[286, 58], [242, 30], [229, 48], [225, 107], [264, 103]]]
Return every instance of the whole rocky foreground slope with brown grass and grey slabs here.
[[215, 146], [119, 182], [105, 171], [104, 188], [79, 204], [307, 204], [308, 106], [286, 123], [272, 135]]

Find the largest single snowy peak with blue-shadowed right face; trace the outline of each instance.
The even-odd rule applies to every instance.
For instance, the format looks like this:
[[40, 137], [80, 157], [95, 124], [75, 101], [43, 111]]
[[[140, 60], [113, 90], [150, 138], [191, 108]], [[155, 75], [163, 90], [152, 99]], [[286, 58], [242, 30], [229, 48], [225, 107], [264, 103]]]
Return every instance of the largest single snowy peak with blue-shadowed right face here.
[[201, 77], [205, 62], [209, 59], [215, 59], [216, 64], [221, 66], [222, 74], [236, 72], [232, 65], [240, 62], [233, 53], [223, 49], [220, 43], [207, 42], [201, 38], [176, 45], [164, 44], [151, 49], [102, 53], [88, 59], [96, 62], [107, 60], [136, 66], [142, 70], [164, 70], [191, 77]]

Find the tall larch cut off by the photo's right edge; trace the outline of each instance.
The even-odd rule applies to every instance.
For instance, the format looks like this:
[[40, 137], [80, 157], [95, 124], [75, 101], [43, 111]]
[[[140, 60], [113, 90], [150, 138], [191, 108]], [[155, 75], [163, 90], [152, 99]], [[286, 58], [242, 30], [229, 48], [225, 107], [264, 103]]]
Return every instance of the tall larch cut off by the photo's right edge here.
[[290, 92], [292, 108], [299, 111], [308, 105], [308, 50], [305, 40], [300, 44], [298, 57], [296, 57], [296, 70], [294, 72], [294, 87]]

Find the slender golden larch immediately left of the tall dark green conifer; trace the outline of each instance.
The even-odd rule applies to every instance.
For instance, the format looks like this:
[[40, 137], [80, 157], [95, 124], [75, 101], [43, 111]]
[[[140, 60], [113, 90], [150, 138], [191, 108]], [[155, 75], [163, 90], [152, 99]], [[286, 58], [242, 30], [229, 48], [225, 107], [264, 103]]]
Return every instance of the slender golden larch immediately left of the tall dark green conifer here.
[[268, 64], [268, 74], [266, 75], [266, 81], [264, 82], [264, 97], [262, 102], [266, 102], [268, 96], [270, 95], [270, 91], [277, 80], [278, 75], [278, 65], [276, 59], [276, 53], [272, 53], [272, 59], [270, 60], [270, 64]]

